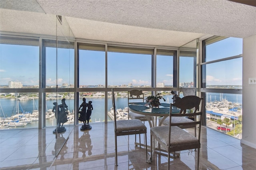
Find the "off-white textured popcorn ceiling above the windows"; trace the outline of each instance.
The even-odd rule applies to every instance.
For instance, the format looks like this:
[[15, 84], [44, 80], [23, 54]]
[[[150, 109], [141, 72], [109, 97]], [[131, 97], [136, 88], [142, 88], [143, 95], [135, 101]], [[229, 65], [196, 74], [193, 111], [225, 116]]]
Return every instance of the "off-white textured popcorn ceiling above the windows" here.
[[52, 14], [65, 16], [74, 37], [88, 40], [180, 47], [204, 35], [256, 34], [256, 7], [228, 0], [0, 0], [0, 8], [0, 30], [9, 32], [50, 35], [44, 16]]

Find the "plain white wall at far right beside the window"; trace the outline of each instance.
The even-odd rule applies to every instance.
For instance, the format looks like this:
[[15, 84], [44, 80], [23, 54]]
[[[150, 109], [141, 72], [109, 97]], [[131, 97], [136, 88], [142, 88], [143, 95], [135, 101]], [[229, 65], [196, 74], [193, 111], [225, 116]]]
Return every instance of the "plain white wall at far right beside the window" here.
[[256, 35], [243, 39], [243, 95], [241, 143], [256, 148]]

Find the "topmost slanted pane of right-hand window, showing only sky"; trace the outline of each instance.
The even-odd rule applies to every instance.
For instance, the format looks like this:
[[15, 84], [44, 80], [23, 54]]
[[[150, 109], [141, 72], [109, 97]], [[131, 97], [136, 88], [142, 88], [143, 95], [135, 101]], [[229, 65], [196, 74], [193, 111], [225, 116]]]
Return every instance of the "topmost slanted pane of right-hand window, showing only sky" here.
[[213, 61], [226, 57], [240, 55], [243, 52], [242, 38], [226, 38], [224, 40], [206, 45], [206, 61]]

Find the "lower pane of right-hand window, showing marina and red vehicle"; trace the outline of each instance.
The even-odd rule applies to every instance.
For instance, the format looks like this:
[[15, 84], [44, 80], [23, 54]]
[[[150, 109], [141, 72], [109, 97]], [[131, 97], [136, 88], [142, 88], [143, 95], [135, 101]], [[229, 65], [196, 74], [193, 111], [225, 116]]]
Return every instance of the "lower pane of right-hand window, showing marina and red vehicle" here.
[[[242, 95], [206, 93], [206, 125], [241, 139]], [[227, 129], [227, 131], [226, 131]]]

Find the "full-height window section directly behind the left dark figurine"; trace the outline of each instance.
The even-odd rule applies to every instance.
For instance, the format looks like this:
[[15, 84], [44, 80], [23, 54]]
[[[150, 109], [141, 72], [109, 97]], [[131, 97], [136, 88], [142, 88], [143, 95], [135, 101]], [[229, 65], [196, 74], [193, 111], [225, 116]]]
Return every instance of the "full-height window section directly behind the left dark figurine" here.
[[54, 103], [60, 105], [62, 99], [68, 106], [68, 121], [64, 125], [74, 124], [74, 42], [58, 41], [56, 51], [55, 40], [43, 40], [43, 49], [44, 126], [56, 125], [56, 115], [52, 110]]

